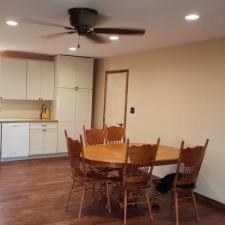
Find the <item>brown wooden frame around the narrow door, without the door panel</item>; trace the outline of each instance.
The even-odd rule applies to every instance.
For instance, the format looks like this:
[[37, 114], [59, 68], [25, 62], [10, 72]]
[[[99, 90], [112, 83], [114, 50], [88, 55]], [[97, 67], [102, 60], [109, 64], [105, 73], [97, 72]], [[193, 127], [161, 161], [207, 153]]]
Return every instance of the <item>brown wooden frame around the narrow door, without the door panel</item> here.
[[127, 99], [128, 99], [128, 81], [129, 81], [129, 69], [124, 70], [109, 70], [105, 72], [105, 91], [104, 91], [104, 108], [103, 108], [103, 126], [105, 125], [105, 112], [106, 112], [106, 94], [107, 94], [107, 81], [109, 75], [114, 75], [117, 73], [126, 74], [126, 87], [125, 87], [125, 106], [124, 106], [124, 119], [123, 127], [126, 128], [127, 125]]

